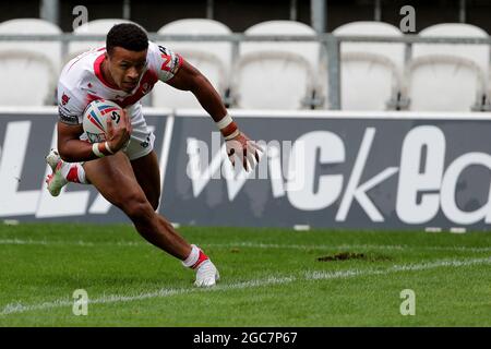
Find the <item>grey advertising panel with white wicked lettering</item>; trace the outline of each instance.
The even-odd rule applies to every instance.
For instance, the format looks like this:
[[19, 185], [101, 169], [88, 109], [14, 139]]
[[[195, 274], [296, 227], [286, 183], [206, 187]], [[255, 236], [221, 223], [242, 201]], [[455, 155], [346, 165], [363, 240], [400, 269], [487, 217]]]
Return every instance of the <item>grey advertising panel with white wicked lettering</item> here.
[[237, 119], [266, 151], [249, 176], [230, 176], [206, 118], [176, 117], [163, 196], [172, 220], [364, 229], [488, 229], [491, 222], [486, 116], [243, 112]]

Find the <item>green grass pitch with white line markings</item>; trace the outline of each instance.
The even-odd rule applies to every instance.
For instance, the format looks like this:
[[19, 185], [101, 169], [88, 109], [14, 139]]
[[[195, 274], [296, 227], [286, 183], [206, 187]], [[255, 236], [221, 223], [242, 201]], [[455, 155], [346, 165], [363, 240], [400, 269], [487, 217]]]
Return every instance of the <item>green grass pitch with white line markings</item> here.
[[130, 225], [0, 225], [0, 326], [491, 326], [488, 232], [179, 230], [217, 287]]

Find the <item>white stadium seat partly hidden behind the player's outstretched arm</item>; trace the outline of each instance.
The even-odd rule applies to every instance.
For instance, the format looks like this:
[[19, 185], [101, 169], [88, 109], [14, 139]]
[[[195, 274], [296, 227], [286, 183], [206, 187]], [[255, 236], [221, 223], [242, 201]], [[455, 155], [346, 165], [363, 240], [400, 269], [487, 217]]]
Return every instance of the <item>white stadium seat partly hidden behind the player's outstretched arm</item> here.
[[[161, 35], [229, 35], [225, 24], [205, 19], [179, 20], [164, 25], [157, 34]], [[221, 96], [229, 87], [229, 72], [232, 44], [229, 41], [158, 41], [159, 45], [181, 55], [197, 68], [214, 85]], [[196, 98], [189, 92], [178, 91], [167, 84], [156, 84], [152, 92], [152, 105], [167, 108], [201, 108]]]

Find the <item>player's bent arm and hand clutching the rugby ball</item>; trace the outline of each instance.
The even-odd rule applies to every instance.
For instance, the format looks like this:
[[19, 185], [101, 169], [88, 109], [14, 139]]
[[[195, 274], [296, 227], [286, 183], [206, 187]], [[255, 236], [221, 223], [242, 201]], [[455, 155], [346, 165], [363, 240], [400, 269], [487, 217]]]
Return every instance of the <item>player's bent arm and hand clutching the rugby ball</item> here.
[[[107, 144], [96, 143], [99, 154], [111, 155], [123, 147], [131, 135], [131, 122], [127, 112], [123, 110], [123, 122], [117, 129], [113, 128], [110, 119], [107, 123]], [[88, 161], [99, 158], [100, 156], [94, 153], [94, 145], [79, 137], [84, 132], [82, 124], [72, 125], [63, 122], [58, 122], [58, 152], [61, 158], [68, 163]], [[109, 149], [108, 149], [109, 148]]]

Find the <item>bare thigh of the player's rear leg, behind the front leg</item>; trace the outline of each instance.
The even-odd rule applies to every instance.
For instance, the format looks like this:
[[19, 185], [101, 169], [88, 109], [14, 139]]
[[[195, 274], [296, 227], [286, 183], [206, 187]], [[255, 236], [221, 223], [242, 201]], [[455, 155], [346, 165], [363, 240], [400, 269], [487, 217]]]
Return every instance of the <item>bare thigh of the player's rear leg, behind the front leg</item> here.
[[146, 198], [152, 207], [157, 209], [160, 200], [160, 168], [157, 154], [152, 151], [149, 154], [134, 159], [131, 161], [131, 167]]

